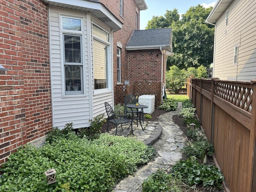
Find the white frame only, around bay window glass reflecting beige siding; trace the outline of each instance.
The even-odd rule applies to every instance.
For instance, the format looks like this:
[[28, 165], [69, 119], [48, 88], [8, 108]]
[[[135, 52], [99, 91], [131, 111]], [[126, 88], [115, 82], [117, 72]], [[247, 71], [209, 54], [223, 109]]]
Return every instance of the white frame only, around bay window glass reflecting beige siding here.
[[[98, 28], [104, 30], [105, 32], [107, 32], [109, 34], [109, 42], [99, 38], [98, 36], [94, 36], [92, 34], [92, 50], [93, 50], [93, 41], [94, 40], [101, 42], [108, 46], [108, 60], [107, 60], [107, 62], [108, 62], [108, 76], [107, 76], [108, 77], [108, 88], [104, 88], [104, 89], [94, 89], [93, 88], [94, 95], [97, 95], [97, 94], [102, 94], [102, 93], [112, 91], [112, 40], [111, 40], [110, 31], [106, 30], [106, 28], [99, 25], [95, 21], [92, 21], [92, 25], [97, 26]], [[91, 29], [92, 29], [92, 27], [91, 27]], [[93, 52], [92, 52], [92, 59], [93, 59]], [[93, 66], [93, 61], [92, 61], [92, 66]], [[94, 70], [94, 69], [92, 69], [92, 70]], [[92, 79], [94, 79], [94, 77], [92, 77]]]

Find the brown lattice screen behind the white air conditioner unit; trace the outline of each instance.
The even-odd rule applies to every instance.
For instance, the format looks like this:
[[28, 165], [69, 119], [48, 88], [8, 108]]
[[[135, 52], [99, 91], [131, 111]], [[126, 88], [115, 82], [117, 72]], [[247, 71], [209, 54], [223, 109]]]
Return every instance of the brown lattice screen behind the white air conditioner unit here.
[[161, 82], [136, 81], [134, 84], [117, 85], [116, 90], [117, 94], [115, 104], [124, 104], [124, 98], [128, 94], [132, 94], [134, 96], [155, 95], [155, 106], [159, 106], [161, 104]]

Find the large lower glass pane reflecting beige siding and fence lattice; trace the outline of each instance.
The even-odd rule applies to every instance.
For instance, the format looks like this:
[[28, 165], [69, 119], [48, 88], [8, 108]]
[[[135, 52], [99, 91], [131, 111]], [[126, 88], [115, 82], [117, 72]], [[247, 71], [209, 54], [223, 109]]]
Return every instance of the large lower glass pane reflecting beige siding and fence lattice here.
[[94, 89], [108, 88], [108, 46], [93, 41]]

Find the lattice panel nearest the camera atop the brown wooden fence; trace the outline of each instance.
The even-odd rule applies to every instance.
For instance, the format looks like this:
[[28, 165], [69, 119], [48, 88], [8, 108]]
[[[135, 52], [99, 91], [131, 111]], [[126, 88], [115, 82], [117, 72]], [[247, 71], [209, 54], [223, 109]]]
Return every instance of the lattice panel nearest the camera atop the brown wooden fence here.
[[251, 112], [253, 93], [252, 85], [216, 82], [214, 87], [214, 95], [234, 104], [239, 108]]

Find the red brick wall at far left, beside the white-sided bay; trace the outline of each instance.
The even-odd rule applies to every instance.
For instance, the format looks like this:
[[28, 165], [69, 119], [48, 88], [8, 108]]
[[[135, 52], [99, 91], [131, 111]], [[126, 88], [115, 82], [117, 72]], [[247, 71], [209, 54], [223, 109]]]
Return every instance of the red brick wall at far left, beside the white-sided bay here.
[[52, 128], [47, 5], [0, 1], [0, 164]]

